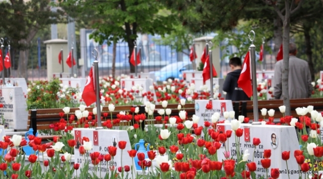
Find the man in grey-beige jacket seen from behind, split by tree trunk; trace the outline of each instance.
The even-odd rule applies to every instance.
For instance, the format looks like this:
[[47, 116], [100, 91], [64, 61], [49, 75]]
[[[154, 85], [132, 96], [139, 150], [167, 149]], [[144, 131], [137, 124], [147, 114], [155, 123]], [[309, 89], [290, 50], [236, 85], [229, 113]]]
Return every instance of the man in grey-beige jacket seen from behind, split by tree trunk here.
[[[290, 43], [288, 71], [289, 98], [308, 98], [311, 96], [313, 91], [309, 64], [307, 61], [297, 58], [296, 54], [296, 45], [294, 43]], [[282, 99], [282, 71], [283, 60], [280, 60], [275, 64], [273, 93], [275, 99]]]

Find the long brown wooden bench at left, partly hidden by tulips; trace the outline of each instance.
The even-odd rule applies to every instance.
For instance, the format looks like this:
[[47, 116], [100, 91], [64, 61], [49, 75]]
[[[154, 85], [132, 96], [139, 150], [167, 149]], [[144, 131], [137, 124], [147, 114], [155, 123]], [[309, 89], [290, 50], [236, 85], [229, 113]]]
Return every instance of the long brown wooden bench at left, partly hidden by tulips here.
[[[170, 116], [175, 116], [178, 115], [178, 109], [177, 109], [178, 104], [168, 104], [167, 108], [171, 109], [171, 114]], [[185, 111], [187, 112], [188, 118], [191, 118], [193, 114], [195, 114], [195, 108], [194, 104], [185, 104]], [[114, 111], [112, 112], [112, 118], [116, 119], [117, 114], [119, 114], [120, 111], [130, 111], [131, 107], [137, 107], [137, 106], [115, 106]], [[140, 107], [140, 113], [145, 113], [145, 106], [138, 106]], [[154, 111], [154, 116], [159, 116], [158, 114], [158, 109], [162, 109], [163, 107], [161, 105], [156, 105], [155, 111]], [[88, 110], [91, 112], [93, 107], [87, 107], [85, 110]], [[70, 114], [75, 114], [75, 111], [79, 110], [79, 108], [71, 108], [70, 109]], [[62, 108], [55, 108], [55, 109], [31, 109], [28, 111], [28, 122], [27, 122], [27, 130], [29, 128], [33, 129], [33, 134], [35, 135], [37, 130], [50, 130], [50, 125], [55, 124], [57, 122], [60, 122], [61, 117], [59, 115], [60, 112], [64, 112]], [[103, 107], [101, 111], [101, 116], [103, 116], [103, 113], [108, 113], [108, 116], [106, 119], [111, 119], [110, 117], [110, 112], [108, 107]], [[67, 114], [64, 114], [63, 119], [67, 120]], [[93, 116], [94, 119], [94, 116]], [[77, 121], [77, 118], [75, 119]], [[161, 121], [156, 121], [153, 120], [154, 124], [161, 124]], [[104, 120], [102, 121], [102, 123]], [[145, 123], [142, 123], [142, 125], [148, 124], [148, 120], [145, 120]], [[122, 125], [128, 125], [126, 121], [121, 121], [119, 124], [116, 124], [114, 126], [118, 126], [122, 123]], [[151, 122], [150, 122], [151, 123]], [[47, 139], [53, 139], [53, 135], [46, 135], [46, 136], [39, 136], [43, 140]]]

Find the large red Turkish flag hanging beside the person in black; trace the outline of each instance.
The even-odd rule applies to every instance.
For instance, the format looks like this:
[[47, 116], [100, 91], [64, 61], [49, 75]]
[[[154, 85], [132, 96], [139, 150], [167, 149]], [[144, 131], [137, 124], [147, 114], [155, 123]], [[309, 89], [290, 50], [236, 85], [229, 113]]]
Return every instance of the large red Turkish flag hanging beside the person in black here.
[[249, 51], [244, 57], [243, 68], [238, 80], [238, 87], [242, 88], [245, 94], [250, 97], [252, 95], [251, 86], [251, 65], [250, 65], [250, 54]]

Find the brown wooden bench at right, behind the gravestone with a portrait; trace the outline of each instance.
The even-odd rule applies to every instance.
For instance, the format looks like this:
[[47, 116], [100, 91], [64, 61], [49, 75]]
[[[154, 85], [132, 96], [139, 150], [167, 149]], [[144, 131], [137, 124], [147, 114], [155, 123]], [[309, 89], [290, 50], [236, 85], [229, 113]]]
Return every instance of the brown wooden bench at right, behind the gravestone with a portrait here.
[[[274, 119], [275, 122], [278, 122], [277, 119], [280, 119], [283, 117], [283, 114], [279, 110], [279, 106], [284, 105], [283, 100], [281, 99], [275, 99], [275, 100], [259, 100], [258, 101], [258, 117], [259, 119], [262, 119], [263, 116], [261, 115], [261, 109], [266, 108], [274, 109]], [[314, 110], [317, 111], [323, 111], [323, 98], [302, 98], [302, 99], [290, 99], [290, 105], [291, 105], [291, 115], [293, 117], [298, 117], [295, 109], [297, 107], [307, 107], [309, 105], [314, 106]], [[239, 107], [240, 115], [243, 115], [244, 117], [249, 117], [250, 119], [253, 119], [253, 101], [241, 101], [241, 107]], [[268, 119], [268, 113], [265, 117], [265, 119]]]

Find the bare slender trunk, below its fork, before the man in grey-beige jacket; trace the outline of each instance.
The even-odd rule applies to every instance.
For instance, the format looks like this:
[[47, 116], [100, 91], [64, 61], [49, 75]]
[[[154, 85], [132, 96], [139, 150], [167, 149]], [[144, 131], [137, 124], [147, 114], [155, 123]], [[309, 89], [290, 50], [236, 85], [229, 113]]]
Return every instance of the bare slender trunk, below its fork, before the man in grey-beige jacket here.
[[290, 32], [290, 11], [286, 7], [283, 31], [283, 71], [282, 71], [282, 98], [286, 106], [285, 115], [291, 115], [291, 105], [288, 92], [288, 72], [289, 72], [289, 32]]

